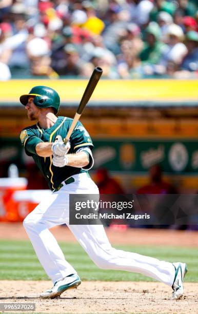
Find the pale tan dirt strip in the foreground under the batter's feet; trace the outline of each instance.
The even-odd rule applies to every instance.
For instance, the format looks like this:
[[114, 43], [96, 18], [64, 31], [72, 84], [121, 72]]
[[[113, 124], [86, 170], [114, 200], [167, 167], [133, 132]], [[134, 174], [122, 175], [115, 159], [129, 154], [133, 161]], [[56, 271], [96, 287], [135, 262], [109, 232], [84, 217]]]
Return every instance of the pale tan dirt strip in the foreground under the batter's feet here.
[[171, 301], [171, 289], [155, 282], [83, 282], [61, 298], [39, 299], [49, 281], [0, 281], [0, 303], [35, 303], [45, 313], [197, 313], [198, 283], [185, 284], [182, 300]]

